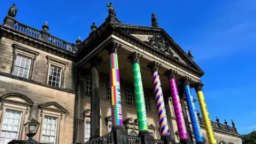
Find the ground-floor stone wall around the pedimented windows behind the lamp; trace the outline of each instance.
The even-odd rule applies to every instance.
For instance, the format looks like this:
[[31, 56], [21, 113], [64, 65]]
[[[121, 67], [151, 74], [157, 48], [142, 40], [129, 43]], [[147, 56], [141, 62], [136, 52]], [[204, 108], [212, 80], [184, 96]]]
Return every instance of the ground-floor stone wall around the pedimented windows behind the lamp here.
[[[75, 107], [75, 94], [63, 92], [60, 90], [51, 89], [49, 87], [36, 85], [33, 83], [23, 82], [17, 79], [8, 78], [5, 76], [0, 76], [0, 95], [9, 94], [9, 93], [19, 93], [26, 95], [31, 101], [34, 102], [33, 106], [29, 109], [28, 114], [25, 115], [23, 123], [21, 123], [20, 132], [22, 133], [19, 137], [20, 140], [26, 140], [25, 129], [23, 129], [23, 124], [28, 122], [31, 117], [34, 117], [41, 123], [42, 118], [41, 111], [38, 106], [47, 102], [57, 102], [59, 105], [67, 109], [66, 114], [63, 115], [62, 119], [59, 119], [59, 143], [72, 143], [73, 142], [73, 119], [74, 119], [74, 107]], [[3, 106], [3, 104], [1, 103]], [[5, 107], [6, 104], [3, 106]], [[13, 107], [13, 106], [10, 106]], [[4, 109], [1, 110], [1, 117], [3, 117]], [[51, 114], [54, 115], [54, 114]], [[56, 117], [58, 115], [56, 114]], [[2, 124], [2, 123], [1, 123]], [[41, 128], [37, 132], [37, 135], [34, 137], [35, 140], [39, 140], [41, 133]]]

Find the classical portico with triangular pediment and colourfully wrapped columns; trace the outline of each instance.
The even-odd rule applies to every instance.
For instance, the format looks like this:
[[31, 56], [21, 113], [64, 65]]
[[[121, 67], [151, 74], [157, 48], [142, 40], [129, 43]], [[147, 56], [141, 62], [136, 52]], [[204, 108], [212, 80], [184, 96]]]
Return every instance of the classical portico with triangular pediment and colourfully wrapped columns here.
[[[186, 95], [190, 118], [193, 119], [193, 130], [197, 143], [203, 143], [202, 133], [198, 128], [198, 119], [190, 91], [201, 83], [204, 72], [193, 61], [191, 52], [185, 53], [178, 44], [159, 28], [156, 15], [152, 15], [152, 26], [134, 26], [120, 22], [111, 12], [112, 4], [108, 5], [109, 15], [106, 21], [97, 28], [93, 23], [92, 32], [84, 42], [78, 45], [78, 73], [92, 71], [91, 94], [91, 141], [99, 137], [99, 79], [100, 75], [109, 77], [111, 97], [111, 132], [113, 140], [127, 143], [129, 137], [123, 129], [122, 84], [131, 85], [135, 95], [134, 106], [137, 108], [139, 138], [142, 143], [154, 143], [154, 138], [148, 132], [147, 113], [143, 90], [149, 90], [149, 97], [155, 99], [155, 109], [158, 117], [159, 134], [164, 143], [174, 142], [173, 124], [170, 121], [171, 95], [174, 113], [179, 130], [181, 143], [191, 143], [191, 130], [188, 129], [188, 117], [183, 113]], [[111, 9], [110, 9], [111, 8]], [[116, 14], [116, 13], [115, 13]], [[154, 24], [154, 25], [153, 25]], [[186, 82], [185, 82], [186, 81]], [[169, 91], [169, 94], [163, 94]], [[198, 91], [199, 103], [203, 100], [202, 91]], [[192, 99], [192, 100], [191, 100]], [[167, 102], [165, 102], [167, 101]], [[167, 104], [166, 104], [167, 103]], [[201, 102], [202, 103], [202, 102]], [[201, 105], [205, 112], [205, 105]], [[166, 113], [167, 111], [167, 113]], [[203, 113], [207, 116], [207, 113]], [[186, 114], [187, 116], [187, 114]], [[206, 123], [207, 124], [207, 123]], [[209, 135], [214, 143], [214, 137], [209, 129]]]

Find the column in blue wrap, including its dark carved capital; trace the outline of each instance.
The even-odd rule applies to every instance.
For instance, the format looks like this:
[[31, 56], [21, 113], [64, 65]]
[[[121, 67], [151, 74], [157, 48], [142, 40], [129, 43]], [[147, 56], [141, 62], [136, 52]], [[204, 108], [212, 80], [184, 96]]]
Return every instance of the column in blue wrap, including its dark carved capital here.
[[190, 86], [189, 86], [190, 80], [191, 80], [191, 78], [189, 78], [189, 77], [183, 77], [181, 79], [181, 82], [182, 82], [182, 86], [184, 88], [184, 92], [186, 95], [188, 112], [189, 112], [191, 124], [193, 127], [194, 135], [195, 135], [195, 140], [196, 140], [196, 143], [199, 144], [199, 143], [204, 143], [204, 139], [203, 139], [203, 134], [201, 132], [199, 121], [197, 118], [196, 107], [195, 107], [195, 103], [193, 101], [194, 99], [190, 92]]

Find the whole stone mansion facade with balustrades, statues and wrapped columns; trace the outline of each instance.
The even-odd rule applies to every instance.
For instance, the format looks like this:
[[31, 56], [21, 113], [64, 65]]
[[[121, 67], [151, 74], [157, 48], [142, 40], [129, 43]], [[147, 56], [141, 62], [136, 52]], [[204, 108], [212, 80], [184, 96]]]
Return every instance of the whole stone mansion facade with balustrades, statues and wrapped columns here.
[[41, 143], [242, 143], [233, 121], [209, 119], [203, 70], [156, 15], [151, 26], [129, 25], [107, 6], [106, 21], [76, 43], [52, 36], [47, 22], [19, 22], [10, 7], [0, 25], [0, 144], [27, 140], [32, 117]]

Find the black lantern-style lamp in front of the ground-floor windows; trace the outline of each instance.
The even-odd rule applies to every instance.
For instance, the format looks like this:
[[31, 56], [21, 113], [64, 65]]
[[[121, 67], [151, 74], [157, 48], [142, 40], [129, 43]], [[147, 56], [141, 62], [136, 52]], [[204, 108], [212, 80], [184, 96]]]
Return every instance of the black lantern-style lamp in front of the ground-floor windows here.
[[36, 140], [33, 140], [33, 137], [36, 135], [40, 123], [36, 121], [36, 119], [32, 118], [28, 121], [25, 126], [25, 132], [28, 136], [28, 140], [24, 142], [24, 144], [37, 144]]

